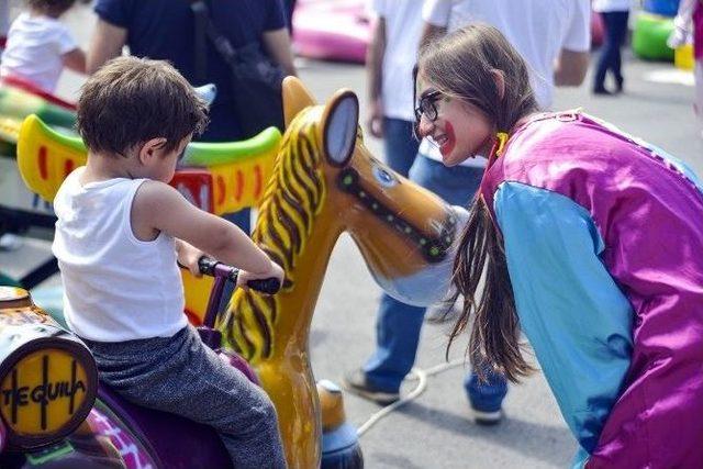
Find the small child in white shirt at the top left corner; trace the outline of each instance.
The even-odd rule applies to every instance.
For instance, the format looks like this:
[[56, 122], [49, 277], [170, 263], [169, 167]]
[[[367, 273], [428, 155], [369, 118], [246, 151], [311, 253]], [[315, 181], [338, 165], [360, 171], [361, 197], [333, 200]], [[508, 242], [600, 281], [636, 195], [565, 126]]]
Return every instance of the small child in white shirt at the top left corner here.
[[86, 55], [58, 18], [76, 0], [25, 0], [12, 22], [0, 59], [0, 78], [16, 77], [53, 93], [64, 67], [83, 74]]

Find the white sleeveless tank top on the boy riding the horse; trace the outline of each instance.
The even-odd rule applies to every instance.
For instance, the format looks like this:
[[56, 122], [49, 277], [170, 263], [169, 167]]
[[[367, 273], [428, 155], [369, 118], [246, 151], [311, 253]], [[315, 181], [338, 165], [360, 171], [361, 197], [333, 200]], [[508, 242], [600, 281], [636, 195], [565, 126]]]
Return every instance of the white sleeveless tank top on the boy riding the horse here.
[[71, 331], [97, 342], [169, 337], [187, 325], [175, 241], [134, 236], [132, 201], [146, 179], [82, 186], [83, 168], [64, 181], [54, 210], [52, 250], [64, 282], [64, 315]]

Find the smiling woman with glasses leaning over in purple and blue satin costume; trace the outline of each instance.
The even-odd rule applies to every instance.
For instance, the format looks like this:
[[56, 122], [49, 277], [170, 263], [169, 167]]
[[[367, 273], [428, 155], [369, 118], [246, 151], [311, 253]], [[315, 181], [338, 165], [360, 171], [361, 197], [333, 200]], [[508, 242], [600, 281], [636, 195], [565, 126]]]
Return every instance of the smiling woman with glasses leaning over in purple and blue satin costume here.
[[535, 112], [525, 62], [486, 24], [423, 49], [417, 94], [446, 166], [489, 155], [453, 276], [475, 369], [529, 373], [522, 331], [576, 467], [701, 467], [701, 180], [579, 111]]

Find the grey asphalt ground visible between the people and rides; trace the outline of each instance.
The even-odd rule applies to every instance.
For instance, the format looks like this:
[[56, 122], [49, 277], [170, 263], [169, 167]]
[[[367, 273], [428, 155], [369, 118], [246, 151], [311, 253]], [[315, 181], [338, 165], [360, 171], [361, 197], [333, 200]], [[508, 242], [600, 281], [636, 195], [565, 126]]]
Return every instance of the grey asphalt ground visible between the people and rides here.
[[[87, 45], [92, 18], [80, 7], [66, 19], [81, 44]], [[357, 92], [365, 115], [365, 70], [358, 65], [298, 60], [300, 76], [323, 102], [339, 88]], [[581, 107], [624, 131], [640, 136], [689, 163], [703, 175], [703, 139], [691, 109], [692, 76], [670, 64], [644, 63], [625, 56], [625, 90], [618, 97], [593, 97], [590, 76], [580, 88], [558, 89], [554, 109]], [[58, 93], [74, 98], [81, 77], [66, 74]], [[382, 155], [379, 141], [367, 146]], [[27, 239], [15, 252], [0, 253], [0, 268], [20, 275], [45, 258], [48, 242]], [[54, 278], [48, 284], [58, 284]], [[317, 379], [341, 381], [359, 367], [375, 343], [375, 317], [380, 290], [348, 236], [334, 249], [317, 301], [310, 337], [312, 366]], [[444, 364], [449, 323], [423, 328], [416, 366], [431, 370]], [[451, 360], [461, 360], [466, 342], [458, 343]], [[540, 373], [511, 386], [505, 417], [495, 426], [471, 422], [462, 389], [464, 366], [427, 378], [424, 393], [378, 421], [361, 437], [368, 468], [559, 468], [567, 467], [576, 443], [559, 415]], [[417, 386], [409, 380], [402, 392]], [[354, 395], [345, 399], [348, 420], [360, 426], [381, 407]]]

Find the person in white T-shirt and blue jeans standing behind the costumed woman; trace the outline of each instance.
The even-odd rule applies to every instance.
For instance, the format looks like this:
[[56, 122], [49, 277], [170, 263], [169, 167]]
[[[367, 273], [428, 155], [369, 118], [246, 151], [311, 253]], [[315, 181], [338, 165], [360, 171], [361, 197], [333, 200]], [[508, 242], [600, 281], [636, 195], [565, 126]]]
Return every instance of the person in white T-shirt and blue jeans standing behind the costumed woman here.
[[[520, 7], [517, 8], [517, 3]], [[498, 27], [531, 67], [539, 105], [551, 104], [553, 88], [579, 86], [588, 70], [591, 34], [590, 0], [425, 0], [422, 15], [424, 44], [438, 34], [471, 22]], [[437, 147], [427, 139], [410, 168], [410, 179], [457, 205], [470, 203], [483, 175], [486, 160], [468, 158], [451, 168], [442, 164]], [[377, 319], [377, 347], [365, 366], [345, 378], [347, 389], [381, 404], [400, 399], [400, 383], [415, 360], [424, 309], [395, 300], [381, 305]], [[477, 423], [492, 424], [502, 416], [506, 393], [502, 376], [476, 375], [465, 387]]]

